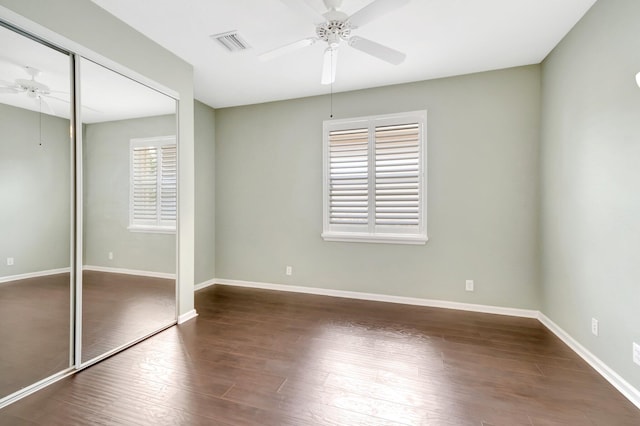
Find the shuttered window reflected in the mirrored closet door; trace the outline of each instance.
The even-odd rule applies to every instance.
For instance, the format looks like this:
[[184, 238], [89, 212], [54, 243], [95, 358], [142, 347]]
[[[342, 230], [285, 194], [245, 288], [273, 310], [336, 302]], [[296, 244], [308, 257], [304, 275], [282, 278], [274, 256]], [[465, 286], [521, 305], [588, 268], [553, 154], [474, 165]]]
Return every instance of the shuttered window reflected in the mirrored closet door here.
[[131, 140], [130, 230], [175, 231], [177, 166], [175, 136]]

